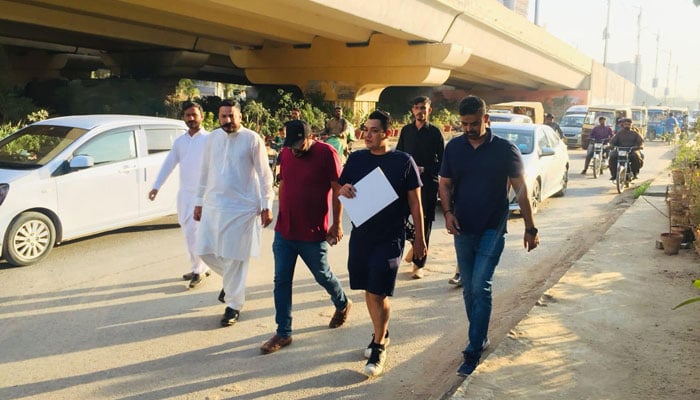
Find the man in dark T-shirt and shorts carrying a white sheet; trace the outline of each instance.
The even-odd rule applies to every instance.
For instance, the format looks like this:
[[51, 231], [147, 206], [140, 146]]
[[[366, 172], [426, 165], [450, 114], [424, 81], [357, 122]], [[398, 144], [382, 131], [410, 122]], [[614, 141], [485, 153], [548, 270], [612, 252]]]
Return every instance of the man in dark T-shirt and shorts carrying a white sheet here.
[[406, 210], [410, 210], [415, 222], [413, 252], [418, 258], [426, 254], [418, 168], [409, 154], [392, 151], [387, 138], [390, 124], [390, 116], [383, 111], [377, 110], [369, 115], [364, 136], [367, 148], [350, 154], [339, 180], [342, 185], [339, 195], [372, 199], [371, 193], [358, 193], [354, 185], [379, 167], [398, 195], [398, 199], [360, 226], [353, 225], [350, 235], [350, 288], [365, 291], [365, 303], [374, 328], [372, 340], [365, 350], [365, 357], [369, 358], [365, 374], [370, 377], [380, 375], [386, 363], [389, 296], [394, 294], [405, 242]]

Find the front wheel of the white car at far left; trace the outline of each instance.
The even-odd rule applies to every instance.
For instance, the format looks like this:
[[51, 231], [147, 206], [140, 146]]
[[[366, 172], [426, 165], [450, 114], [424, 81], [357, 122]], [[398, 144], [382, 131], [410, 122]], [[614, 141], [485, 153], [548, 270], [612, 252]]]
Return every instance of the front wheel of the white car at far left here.
[[12, 265], [31, 265], [49, 255], [56, 242], [53, 221], [38, 212], [20, 214], [10, 225], [3, 254]]

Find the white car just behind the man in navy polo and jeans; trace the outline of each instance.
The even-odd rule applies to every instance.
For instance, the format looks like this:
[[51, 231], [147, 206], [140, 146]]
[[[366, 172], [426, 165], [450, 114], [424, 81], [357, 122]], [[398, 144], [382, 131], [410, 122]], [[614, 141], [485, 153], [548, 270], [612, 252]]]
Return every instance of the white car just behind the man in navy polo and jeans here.
[[[564, 196], [569, 182], [569, 153], [552, 128], [543, 124], [494, 122], [491, 132], [518, 146], [525, 166], [532, 212], [552, 196]], [[515, 192], [510, 193], [511, 211], [519, 211]]]

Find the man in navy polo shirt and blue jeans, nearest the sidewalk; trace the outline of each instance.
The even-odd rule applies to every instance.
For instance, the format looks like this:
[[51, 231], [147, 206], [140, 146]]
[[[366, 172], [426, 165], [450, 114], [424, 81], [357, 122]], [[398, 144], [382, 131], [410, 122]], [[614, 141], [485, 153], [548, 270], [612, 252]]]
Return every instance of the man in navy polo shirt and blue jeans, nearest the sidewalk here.
[[518, 148], [492, 135], [486, 103], [467, 96], [459, 105], [464, 134], [449, 143], [440, 169], [440, 201], [447, 233], [454, 235], [469, 320], [469, 344], [457, 375], [471, 374], [488, 346], [493, 274], [505, 245], [508, 183], [518, 193], [525, 222], [523, 244], [539, 244]]

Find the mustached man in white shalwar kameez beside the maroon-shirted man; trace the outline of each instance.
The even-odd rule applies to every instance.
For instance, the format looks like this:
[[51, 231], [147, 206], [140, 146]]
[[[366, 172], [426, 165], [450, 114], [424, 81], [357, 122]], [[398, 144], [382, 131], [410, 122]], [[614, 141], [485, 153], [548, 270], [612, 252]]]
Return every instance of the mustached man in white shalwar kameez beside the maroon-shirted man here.
[[260, 254], [262, 228], [272, 222], [274, 191], [265, 143], [241, 126], [240, 106], [224, 100], [219, 124], [204, 149], [194, 218], [196, 253], [223, 277], [221, 326], [230, 326], [245, 303], [250, 257]]

